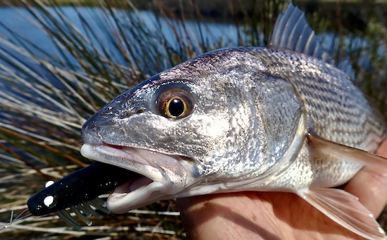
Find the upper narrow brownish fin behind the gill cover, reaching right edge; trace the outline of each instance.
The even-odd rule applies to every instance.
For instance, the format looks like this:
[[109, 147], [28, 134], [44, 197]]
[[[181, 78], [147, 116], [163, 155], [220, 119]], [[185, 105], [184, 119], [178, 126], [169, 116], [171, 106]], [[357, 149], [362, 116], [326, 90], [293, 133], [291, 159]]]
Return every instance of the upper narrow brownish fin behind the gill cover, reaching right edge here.
[[331, 159], [352, 161], [371, 168], [387, 169], [387, 159], [373, 153], [338, 144], [313, 133], [307, 135], [307, 141], [314, 155], [324, 156], [326, 159], [334, 156]]

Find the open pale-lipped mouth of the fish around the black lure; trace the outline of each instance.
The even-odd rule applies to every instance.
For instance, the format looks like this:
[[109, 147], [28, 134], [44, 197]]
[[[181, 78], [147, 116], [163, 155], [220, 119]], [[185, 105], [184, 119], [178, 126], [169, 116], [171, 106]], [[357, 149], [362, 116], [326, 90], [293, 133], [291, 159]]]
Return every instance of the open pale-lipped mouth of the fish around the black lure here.
[[157, 151], [112, 144], [84, 144], [82, 156], [101, 163], [125, 168], [138, 175], [116, 187], [106, 201], [113, 213], [146, 206], [155, 201], [174, 198], [194, 179], [193, 165], [180, 156], [171, 156]]

